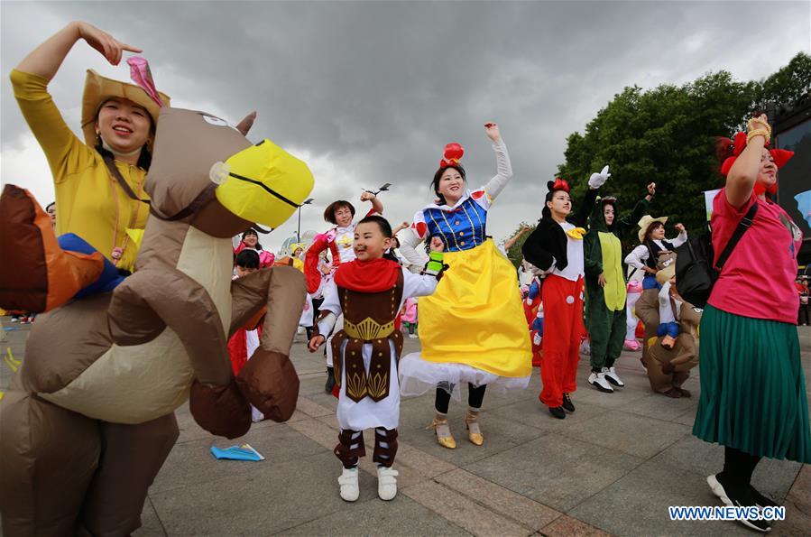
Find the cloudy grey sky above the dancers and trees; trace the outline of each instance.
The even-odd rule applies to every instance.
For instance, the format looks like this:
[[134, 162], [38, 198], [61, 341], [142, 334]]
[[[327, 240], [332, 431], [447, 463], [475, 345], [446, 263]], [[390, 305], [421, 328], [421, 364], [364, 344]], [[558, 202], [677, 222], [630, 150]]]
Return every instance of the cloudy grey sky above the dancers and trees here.
[[[495, 171], [485, 121], [501, 125], [515, 175], [488, 230], [502, 240], [539, 217], [545, 183], [582, 131], [625, 86], [681, 84], [728, 69], [760, 79], [811, 49], [809, 2], [58, 2], [3, 1], [2, 182], [42, 204], [51, 175], [23, 122], [7, 73], [71, 20], [143, 49], [172, 105], [234, 123], [255, 109], [249, 138], [271, 138], [309, 163], [323, 208], [393, 183], [392, 222], [432, 199], [448, 142], [465, 146], [475, 188]], [[51, 94], [78, 132], [85, 69], [128, 79], [78, 42]], [[355, 203], [358, 207], [360, 203]], [[265, 237], [278, 246], [296, 218]]]

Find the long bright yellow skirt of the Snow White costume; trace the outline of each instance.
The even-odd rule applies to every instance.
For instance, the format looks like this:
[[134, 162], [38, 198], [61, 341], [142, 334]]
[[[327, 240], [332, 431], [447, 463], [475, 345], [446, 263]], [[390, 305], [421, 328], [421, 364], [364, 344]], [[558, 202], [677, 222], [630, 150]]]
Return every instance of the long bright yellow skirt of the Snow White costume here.
[[489, 374], [483, 380], [496, 375], [528, 381], [532, 346], [515, 268], [491, 239], [472, 250], [447, 252], [445, 263], [450, 268], [437, 291], [419, 299], [419, 357]]

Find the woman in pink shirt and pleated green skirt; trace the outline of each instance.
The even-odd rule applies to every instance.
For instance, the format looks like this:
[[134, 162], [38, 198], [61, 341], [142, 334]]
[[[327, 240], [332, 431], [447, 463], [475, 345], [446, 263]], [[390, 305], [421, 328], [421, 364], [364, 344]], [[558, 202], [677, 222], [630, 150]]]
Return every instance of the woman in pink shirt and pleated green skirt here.
[[[770, 151], [769, 137], [765, 115], [749, 122], [748, 136], [736, 137], [736, 157], [724, 162], [726, 185], [714, 199], [711, 219], [717, 256], [757, 204], [701, 319], [701, 399], [693, 434], [724, 446], [723, 471], [707, 483], [726, 505], [775, 505], [751, 486], [762, 457], [811, 463], [794, 313], [802, 233], [767, 196], [777, 190], [778, 168], [792, 153]], [[768, 521], [739, 522], [770, 530]]]

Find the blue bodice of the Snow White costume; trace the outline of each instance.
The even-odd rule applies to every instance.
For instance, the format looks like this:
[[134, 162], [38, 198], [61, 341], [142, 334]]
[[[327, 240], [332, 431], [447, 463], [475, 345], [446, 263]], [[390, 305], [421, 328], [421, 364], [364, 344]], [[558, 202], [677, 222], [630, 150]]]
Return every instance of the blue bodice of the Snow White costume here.
[[467, 198], [457, 208], [442, 210], [425, 208], [422, 211], [428, 236], [439, 236], [446, 252], [470, 250], [486, 240], [487, 209], [473, 198]]

